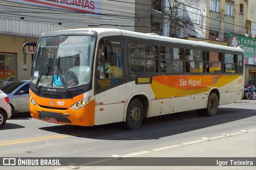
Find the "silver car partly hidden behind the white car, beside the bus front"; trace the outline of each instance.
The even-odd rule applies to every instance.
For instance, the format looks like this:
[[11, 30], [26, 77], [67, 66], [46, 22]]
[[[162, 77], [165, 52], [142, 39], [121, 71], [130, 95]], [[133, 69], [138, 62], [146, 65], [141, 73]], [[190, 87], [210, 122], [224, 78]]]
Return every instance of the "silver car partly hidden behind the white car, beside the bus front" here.
[[11, 82], [0, 88], [9, 97], [12, 108], [11, 117], [17, 112], [29, 112], [29, 83], [30, 80]]

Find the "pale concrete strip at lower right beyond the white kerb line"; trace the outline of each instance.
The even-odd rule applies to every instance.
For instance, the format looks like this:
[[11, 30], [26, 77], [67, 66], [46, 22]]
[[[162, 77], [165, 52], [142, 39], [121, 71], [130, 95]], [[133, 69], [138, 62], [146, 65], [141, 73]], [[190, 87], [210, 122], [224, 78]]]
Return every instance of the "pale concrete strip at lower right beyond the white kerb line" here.
[[[194, 162], [191, 162], [190, 158], [192, 158]], [[220, 163], [225, 163], [223, 161], [229, 161], [230, 159], [240, 159], [238, 161], [252, 160], [254, 166], [219, 166]], [[251, 129], [241, 130], [233, 134], [201, 138], [201, 140], [155, 148], [123, 156], [112, 155], [112, 158], [88, 162], [78, 166], [79, 170], [255, 170], [255, 159], [256, 129]], [[172, 164], [170, 161], [173, 160], [175, 160], [174, 164], [178, 164], [177, 166], [170, 166], [170, 164]], [[219, 161], [218, 165], [217, 160]], [[197, 166], [193, 166], [194, 164]], [[230, 165], [230, 161], [227, 165]], [[71, 170], [72, 168], [78, 168], [78, 166], [60, 169]]]

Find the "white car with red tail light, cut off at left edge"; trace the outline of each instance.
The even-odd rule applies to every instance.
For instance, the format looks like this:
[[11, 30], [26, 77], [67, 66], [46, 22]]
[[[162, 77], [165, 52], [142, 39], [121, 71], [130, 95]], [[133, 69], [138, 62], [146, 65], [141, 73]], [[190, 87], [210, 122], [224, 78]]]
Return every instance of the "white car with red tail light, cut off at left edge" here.
[[6, 122], [6, 119], [12, 115], [12, 108], [9, 104], [9, 98], [7, 94], [0, 90], [0, 128], [2, 128]]

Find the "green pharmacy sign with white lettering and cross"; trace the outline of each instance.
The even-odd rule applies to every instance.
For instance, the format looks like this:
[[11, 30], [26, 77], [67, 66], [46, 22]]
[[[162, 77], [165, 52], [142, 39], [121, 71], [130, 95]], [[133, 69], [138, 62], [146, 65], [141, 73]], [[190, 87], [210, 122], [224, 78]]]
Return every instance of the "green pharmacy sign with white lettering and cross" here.
[[240, 46], [244, 50], [244, 63], [256, 65], [256, 38], [230, 33], [229, 46]]

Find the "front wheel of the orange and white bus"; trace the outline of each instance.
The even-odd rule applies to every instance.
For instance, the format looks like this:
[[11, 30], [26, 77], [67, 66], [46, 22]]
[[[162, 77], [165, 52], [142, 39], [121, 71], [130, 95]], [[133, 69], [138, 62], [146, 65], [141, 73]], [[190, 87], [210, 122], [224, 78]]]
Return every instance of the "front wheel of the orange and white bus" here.
[[126, 121], [123, 123], [124, 128], [135, 130], [140, 127], [144, 117], [144, 108], [142, 102], [135, 98], [133, 99], [126, 111]]

